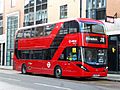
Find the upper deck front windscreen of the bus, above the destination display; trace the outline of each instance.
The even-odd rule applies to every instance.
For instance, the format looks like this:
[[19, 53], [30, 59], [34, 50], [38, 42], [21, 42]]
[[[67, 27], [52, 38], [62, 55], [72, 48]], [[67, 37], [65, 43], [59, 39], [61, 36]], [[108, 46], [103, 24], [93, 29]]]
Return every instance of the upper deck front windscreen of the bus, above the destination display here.
[[92, 22], [81, 22], [81, 32], [105, 34], [103, 24]]

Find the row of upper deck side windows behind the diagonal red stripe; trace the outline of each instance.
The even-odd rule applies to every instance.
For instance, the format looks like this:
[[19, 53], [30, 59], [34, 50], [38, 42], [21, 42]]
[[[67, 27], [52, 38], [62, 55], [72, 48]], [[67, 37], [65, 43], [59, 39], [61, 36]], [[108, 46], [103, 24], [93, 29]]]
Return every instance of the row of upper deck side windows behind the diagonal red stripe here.
[[16, 38], [33, 38], [33, 37], [41, 37], [48, 36], [55, 28], [56, 24], [49, 24], [45, 26], [38, 26], [29, 29], [19, 30]]

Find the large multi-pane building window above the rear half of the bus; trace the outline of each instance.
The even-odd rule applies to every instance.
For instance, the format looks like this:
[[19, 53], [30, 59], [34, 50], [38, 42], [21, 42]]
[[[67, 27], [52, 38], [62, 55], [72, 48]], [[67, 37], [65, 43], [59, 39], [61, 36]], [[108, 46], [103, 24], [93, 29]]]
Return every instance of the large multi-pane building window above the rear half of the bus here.
[[47, 0], [25, 0], [24, 14], [24, 26], [47, 23]]

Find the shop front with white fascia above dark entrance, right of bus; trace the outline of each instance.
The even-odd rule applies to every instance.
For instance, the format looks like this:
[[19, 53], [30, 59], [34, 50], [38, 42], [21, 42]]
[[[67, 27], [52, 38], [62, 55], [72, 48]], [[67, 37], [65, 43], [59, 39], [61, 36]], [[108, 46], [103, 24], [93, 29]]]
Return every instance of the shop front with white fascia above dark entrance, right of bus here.
[[109, 73], [120, 73], [120, 18], [114, 22], [105, 22], [108, 35], [108, 70]]

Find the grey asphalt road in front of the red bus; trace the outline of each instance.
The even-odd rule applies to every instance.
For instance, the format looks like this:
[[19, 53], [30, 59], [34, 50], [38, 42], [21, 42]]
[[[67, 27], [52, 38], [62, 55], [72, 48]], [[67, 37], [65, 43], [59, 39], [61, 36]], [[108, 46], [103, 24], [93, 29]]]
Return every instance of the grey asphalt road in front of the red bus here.
[[47, 75], [23, 75], [13, 70], [0, 70], [0, 90], [120, 90], [120, 82], [57, 79]]

